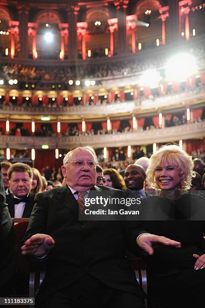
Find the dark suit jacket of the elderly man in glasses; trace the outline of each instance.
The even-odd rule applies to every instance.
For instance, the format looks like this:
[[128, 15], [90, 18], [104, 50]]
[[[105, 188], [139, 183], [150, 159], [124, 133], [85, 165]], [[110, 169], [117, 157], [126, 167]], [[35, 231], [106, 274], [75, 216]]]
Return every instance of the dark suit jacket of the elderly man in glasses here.
[[[100, 187], [94, 189], [103, 194]], [[111, 196], [124, 197], [119, 190], [106, 189]], [[25, 235], [50, 235], [54, 248], [48, 253], [45, 279], [39, 298], [61, 289], [86, 272], [105, 284], [145, 297], [126, 258], [125, 247], [134, 250], [142, 233], [131, 222], [79, 221], [78, 203], [67, 186], [37, 194]]]

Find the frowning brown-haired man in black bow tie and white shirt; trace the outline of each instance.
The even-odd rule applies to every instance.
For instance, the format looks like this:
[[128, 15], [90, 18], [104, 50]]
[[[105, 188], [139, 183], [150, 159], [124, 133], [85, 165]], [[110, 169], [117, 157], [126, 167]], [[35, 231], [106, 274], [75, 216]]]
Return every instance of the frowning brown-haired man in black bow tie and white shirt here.
[[27, 164], [16, 163], [8, 170], [10, 188], [13, 194], [6, 196], [11, 217], [29, 218], [35, 195], [31, 193], [33, 173]]

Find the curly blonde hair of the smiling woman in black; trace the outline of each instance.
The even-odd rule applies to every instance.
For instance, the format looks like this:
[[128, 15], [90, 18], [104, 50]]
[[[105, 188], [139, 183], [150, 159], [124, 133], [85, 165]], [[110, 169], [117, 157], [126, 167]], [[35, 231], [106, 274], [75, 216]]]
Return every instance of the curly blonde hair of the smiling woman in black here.
[[175, 144], [164, 145], [151, 156], [146, 172], [150, 185], [155, 189], [160, 189], [155, 181], [155, 171], [158, 166], [165, 166], [167, 164], [176, 167], [180, 172], [181, 181], [179, 183], [179, 190], [190, 189], [191, 179], [194, 177], [192, 173], [192, 157]]

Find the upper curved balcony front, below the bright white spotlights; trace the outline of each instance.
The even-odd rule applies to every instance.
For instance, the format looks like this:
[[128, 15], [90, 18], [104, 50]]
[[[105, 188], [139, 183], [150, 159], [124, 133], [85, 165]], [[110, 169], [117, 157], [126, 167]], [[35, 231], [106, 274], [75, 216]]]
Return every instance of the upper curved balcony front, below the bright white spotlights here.
[[79, 105], [70, 107], [21, 107], [0, 105], [1, 114], [4, 115], [53, 115], [65, 117], [69, 119], [70, 116], [86, 116], [93, 115], [111, 115], [122, 113], [138, 113], [140, 110], [144, 113], [149, 113], [153, 109], [161, 109], [173, 106], [188, 106], [191, 104], [204, 103], [205, 87], [200, 89], [187, 90], [181, 93], [173, 93], [171, 95], [157, 97], [155, 99], [142, 99], [136, 101], [125, 101], [123, 103], [113, 103], [107, 105]]

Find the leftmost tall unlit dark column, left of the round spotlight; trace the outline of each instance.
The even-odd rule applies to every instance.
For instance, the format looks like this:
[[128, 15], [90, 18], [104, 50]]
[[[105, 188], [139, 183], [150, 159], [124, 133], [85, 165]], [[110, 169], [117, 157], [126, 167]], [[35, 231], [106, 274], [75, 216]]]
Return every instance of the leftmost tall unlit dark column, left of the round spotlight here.
[[29, 8], [25, 4], [17, 6], [19, 12], [19, 40], [20, 40], [20, 57], [28, 57], [28, 14]]

